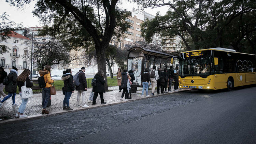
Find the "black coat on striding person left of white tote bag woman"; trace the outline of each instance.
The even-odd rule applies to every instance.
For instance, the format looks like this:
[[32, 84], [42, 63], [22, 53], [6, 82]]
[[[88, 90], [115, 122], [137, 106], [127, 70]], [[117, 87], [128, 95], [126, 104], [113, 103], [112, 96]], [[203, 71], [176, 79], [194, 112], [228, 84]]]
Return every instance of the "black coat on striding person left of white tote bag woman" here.
[[17, 71], [11, 69], [11, 72], [8, 74], [8, 84], [5, 85], [5, 91], [10, 93], [16, 93], [17, 91]]

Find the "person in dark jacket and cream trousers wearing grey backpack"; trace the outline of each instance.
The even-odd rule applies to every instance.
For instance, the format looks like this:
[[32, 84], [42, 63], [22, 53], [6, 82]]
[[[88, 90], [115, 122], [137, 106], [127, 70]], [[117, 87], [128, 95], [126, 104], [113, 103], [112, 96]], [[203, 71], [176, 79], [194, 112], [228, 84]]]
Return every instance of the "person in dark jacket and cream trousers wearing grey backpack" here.
[[[80, 84], [78, 86], [75, 86], [75, 90], [77, 90], [77, 96], [76, 96], [76, 100], [77, 100], [77, 107], [89, 107], [86, 103], [85, 103], [85, 95], [86, 95], [86, 91], [87, 91], [87, 81], [86, 81], [86, 77], [85, 77], [85, 67], [82, 67], [81, 70], [79, 70], [79, 72], [77, 72], [73, 78], [74, 78], [74, 83], [76, 81], [78, 81]], [[77, 83], [77, 82], [76, 82]], [[81, 94], [82, 94], [82, 102], [81, 102]]]

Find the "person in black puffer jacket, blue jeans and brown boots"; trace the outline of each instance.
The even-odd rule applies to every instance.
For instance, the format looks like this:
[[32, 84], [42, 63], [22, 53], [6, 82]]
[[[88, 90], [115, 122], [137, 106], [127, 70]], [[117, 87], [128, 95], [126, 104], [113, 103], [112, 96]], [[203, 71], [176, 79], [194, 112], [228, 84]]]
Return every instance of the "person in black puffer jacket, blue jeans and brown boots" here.
[[[69, 106], [69, 99], [70, 99], [72, 93], [74, 93], [75, 86], [73, 84], [72, 70], [67, 69], [65, 72], [66, 73], [63, 74], [61, 77], [61, 80], [64, 82], [63, 91], [65, 92], [65, 97], [63, 99], [63, 110], [72, 111], [73, 109], [71, 109]], [[63, 71], [63, 73], [64, 73], [64, 71]], [[67, 106], [66, 106], [66, 104], [67, 104]]]

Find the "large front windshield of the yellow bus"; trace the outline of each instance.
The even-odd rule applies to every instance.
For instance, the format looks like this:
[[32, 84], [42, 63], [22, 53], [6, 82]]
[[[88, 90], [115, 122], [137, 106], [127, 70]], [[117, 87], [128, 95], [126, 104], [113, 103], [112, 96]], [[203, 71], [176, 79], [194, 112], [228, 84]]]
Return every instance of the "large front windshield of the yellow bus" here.
[[202, 56], [193, 57], [193, 54], [190, 53], [190, 57], [180, 59], [179, 75], [182, 78], [186, 76], [201, 76], [206, 78], [210, 75], [210, 53], [206, 51], [201, 54]]

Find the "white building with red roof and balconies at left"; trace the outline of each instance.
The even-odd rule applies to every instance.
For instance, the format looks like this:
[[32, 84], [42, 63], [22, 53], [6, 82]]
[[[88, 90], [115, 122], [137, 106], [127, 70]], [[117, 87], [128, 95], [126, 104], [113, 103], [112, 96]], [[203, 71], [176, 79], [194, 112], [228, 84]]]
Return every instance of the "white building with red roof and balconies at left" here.
[[0, 54], [0, 66], [3, 67], [7, 73], [10, 72], [12, 66], [18, 69], [18, 74], [22, 73], [24, 69], [30, 69], [30, 61], [23, 59], [23, 56], [28, 55], [29, 48], [31, 48], [30, 39], [13, 32], [9, 35], [9, 38], [1, 39], [0, 44], [10, 48], [2, 48], [2, 54]]

